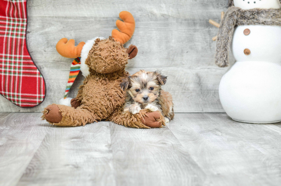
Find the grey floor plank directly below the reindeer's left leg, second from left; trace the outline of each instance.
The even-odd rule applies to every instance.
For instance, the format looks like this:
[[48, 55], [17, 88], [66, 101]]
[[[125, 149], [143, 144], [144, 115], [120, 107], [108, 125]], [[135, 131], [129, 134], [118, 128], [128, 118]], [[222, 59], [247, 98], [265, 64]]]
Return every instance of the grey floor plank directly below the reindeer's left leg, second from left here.
[[115, 185], [109, 122], [52, 127], [17, 185]]

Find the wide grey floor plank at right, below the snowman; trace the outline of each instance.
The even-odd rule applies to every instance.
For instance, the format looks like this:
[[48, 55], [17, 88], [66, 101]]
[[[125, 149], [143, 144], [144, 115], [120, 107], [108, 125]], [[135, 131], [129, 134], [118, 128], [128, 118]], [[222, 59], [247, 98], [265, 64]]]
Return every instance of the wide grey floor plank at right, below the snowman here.
[[280, 185], [281, 124], [272, 125], [185, 113], [167, 127], [206, 173], [205, 185]]

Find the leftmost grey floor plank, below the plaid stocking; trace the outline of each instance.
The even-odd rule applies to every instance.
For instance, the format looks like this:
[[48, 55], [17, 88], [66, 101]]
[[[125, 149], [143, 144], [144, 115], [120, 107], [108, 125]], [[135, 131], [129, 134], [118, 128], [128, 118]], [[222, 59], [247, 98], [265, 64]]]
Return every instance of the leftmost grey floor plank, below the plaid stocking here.
[[16, 185], [51, 125], [39, 113], [0, 113], [0, 185]]

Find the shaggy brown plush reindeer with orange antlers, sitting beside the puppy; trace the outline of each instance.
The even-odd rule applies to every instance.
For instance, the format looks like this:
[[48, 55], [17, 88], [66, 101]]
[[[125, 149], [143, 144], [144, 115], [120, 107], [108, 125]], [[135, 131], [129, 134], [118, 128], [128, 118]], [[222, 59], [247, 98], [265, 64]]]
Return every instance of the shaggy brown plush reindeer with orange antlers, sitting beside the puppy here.
[[112, 36], [107, 39], [94, 38], [86, 43], [80, 42], [75, 47], [74, 40], [61, 39], [56, 49], [68, 58], [81, 57], [81, 72], [85, 76], [76, 98], [70, 106], [52, 104], [43, 111], [42, 118], [52, 125], [81, 126], [100, 120], [112, 121], [120, 125], [137, 128], [154, 128], [165, 125], [165, 119], [159, 111], [147, 109], [132, 115], [122, 111], [125, 91], [120, 88], [122, 79], [129, 74], [125, 71], [128, 59], [136, 56], [138, 49], [125, 44], [132, 37], [135, 29], [134, 17], [122, 11]]

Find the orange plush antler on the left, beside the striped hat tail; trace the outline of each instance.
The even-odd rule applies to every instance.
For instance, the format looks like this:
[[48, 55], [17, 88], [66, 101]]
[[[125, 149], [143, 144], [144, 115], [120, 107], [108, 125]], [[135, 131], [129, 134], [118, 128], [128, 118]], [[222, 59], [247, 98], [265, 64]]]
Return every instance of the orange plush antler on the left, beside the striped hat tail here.
[[66, 58], [77, 58], [81, 55], [81, 50], [84, 46], [85, 42], [80, 42], [77, 46], [75, 46], [75, 40], [67, 38], [62, 38], [56, 44], [56, 51]]

